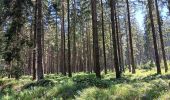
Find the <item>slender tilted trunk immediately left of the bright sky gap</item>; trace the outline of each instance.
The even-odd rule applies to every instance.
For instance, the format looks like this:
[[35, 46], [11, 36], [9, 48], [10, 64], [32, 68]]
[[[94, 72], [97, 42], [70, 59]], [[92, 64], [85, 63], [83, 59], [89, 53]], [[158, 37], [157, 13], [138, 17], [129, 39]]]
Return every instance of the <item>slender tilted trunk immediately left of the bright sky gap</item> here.
[[133, 41], [132, 41], [132, 30], [131, 30], [131, 20], [130, 20], [130, 10], [129, 10], [129, 1], [126, 0], [127, 4], [127, 12], [128, 12], [128, 27], [129, 27], [129, 43], [130, 43], [130, 54], [131, 54], [131, 64], [132, 64], [132, 73], [136, 73], [136, 65], [134, 61], [134, 55], [133, 55]]

